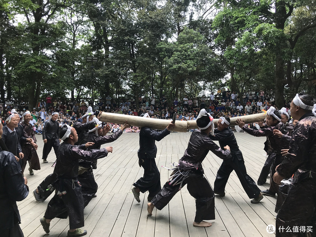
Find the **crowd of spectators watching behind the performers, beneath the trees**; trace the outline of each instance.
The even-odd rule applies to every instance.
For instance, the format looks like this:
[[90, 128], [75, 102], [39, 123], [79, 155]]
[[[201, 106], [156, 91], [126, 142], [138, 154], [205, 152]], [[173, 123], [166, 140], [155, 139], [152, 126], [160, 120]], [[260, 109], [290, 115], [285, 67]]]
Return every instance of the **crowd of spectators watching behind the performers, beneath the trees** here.
[[[15, 109], [22, 115], [25, 111], [30, 110], [32, 120], [30, 123], [34, 126], [37, 133], [41, 133], [46, 121], [51, 119], [53, 112], [59, 112], [58, 122], [61, 125], [72, 125], [76, 121], [81, 121], [81, 116], [87, 112], [88, 106], [92, 106], [94, 114], [97, 116], [100, 112], [111, 112], [126, 114], [131, 116], [140, 116], [142, 113], [148, 113], [151, 118], [170, 119], [176, 113], [176, 120], [195, 120], [202, 108], [205, 108], [210, 114], [218, 119], [221, 116], [238, 117], [248, 114], [260, 113], [268, 110], [270, 106], [274, 106], [274, 94], [272, 90], [265, 94], [264, 91], [244, 92], [242, 98], [235, 91], [230, 91], [225, 88], [217, 91], [216, 94], [210, 94], [208, 97], [203, 95], [197, 97], [185, 97], [182, 100], [168, 101], [165, 96], [159, 99], [154, 97], [146, 98], [139, 96], [138, 100], [117, 100], [112, 99], [110, 95], [104, 100], [99, 100], [96, 103], [87, 103], [84, 100], [53, 100], [51, 96], [46, 99], [41, 99], [36, 107], [29, 108], [28, 103], [23, 100], [9, 99], [4, 103], [0, 101], [0, 112], [4, 114]], [[289, 107], [289, 106], [288, 106]], [[276, 109], [278, 109], [276, 107]], [[288, 112], [290, 112], [288, 110]], [[2, 117], [0, 115], [0, 119]], [[111, 124], [111, 131], [115, 132], [121, 125]], [[139, 132], [137, 127], [131, 127], [125, 132]]]

